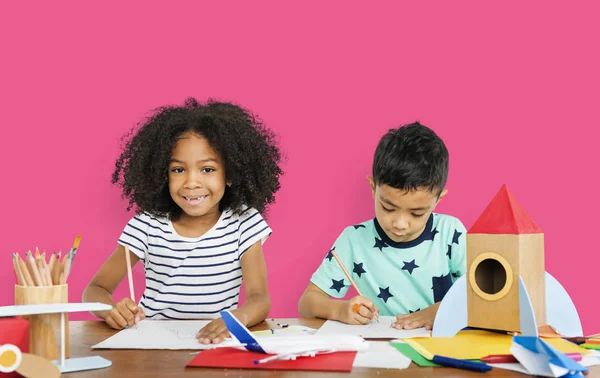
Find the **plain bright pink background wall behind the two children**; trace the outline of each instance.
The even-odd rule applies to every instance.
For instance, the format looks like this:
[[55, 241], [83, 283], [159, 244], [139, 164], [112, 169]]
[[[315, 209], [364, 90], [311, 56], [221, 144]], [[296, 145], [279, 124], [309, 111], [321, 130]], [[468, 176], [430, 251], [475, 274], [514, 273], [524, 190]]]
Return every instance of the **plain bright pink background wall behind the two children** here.
[[[192, 95], [238, 102], [280, 135], [270, 316], [297, 316], [336, 236], [373, 216], [365, 177], [382, 133], [420, 120], [451, 154], [438, 211], [470, 227], [506, 183], [584, 331], [600, 332], [596, 2], [166, 4], [0, 5], [1, 305], [11, 253], [66, 251], [79, 233], [80, 301], [132, 216], [110, 184], [119, 137]], [[135, 283], [141, 295], [140, 269]]]

